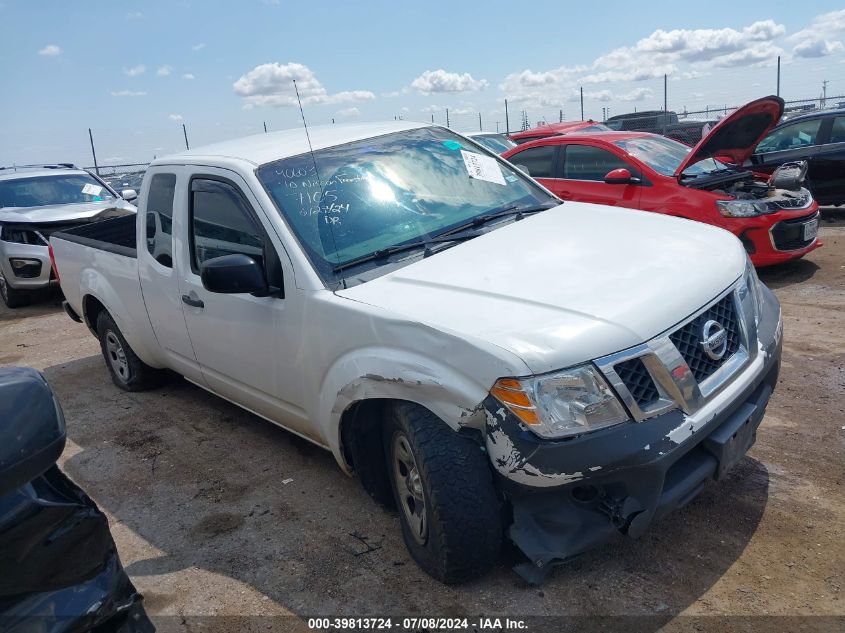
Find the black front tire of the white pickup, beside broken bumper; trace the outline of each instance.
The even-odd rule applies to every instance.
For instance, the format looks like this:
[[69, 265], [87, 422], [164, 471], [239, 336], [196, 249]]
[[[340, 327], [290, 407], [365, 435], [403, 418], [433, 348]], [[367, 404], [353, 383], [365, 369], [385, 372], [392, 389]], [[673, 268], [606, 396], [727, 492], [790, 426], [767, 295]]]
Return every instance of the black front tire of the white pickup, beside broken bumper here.
[[[422, 542], [403, 507], [407, 501], [399, 491], [403, 484], [397, 483], [400, 471], [394, 471], [400, 438], [413, 454], [424, 495], [427, 534]], [[417, 564], [447, 584], [487, 572], [498, 561], [503, 525], [501, 500], [479, 444], [427, 409], [398, 403], [387, 414], [384, 447], [402, 536]]]

